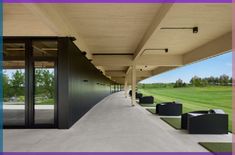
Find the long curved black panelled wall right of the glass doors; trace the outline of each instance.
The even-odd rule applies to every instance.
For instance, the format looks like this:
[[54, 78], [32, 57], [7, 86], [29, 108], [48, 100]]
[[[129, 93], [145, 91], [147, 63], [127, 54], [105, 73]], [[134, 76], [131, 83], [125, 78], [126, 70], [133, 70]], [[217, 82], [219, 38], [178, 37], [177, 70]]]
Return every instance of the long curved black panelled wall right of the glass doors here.
[[81, 53], [69, 38], [59, 39], [58, 125], [71, 127], [109, 95], [113, 83]]

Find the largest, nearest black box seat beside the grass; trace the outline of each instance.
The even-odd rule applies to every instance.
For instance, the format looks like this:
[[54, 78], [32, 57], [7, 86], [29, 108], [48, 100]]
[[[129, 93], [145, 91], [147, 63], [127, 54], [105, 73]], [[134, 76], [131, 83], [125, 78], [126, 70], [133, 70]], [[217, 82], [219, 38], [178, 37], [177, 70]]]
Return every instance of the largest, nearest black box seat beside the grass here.
[[228, 114], [218, 109], [185, 113], [181, 115], [181, 128], [190, 134], [227, 134]]

